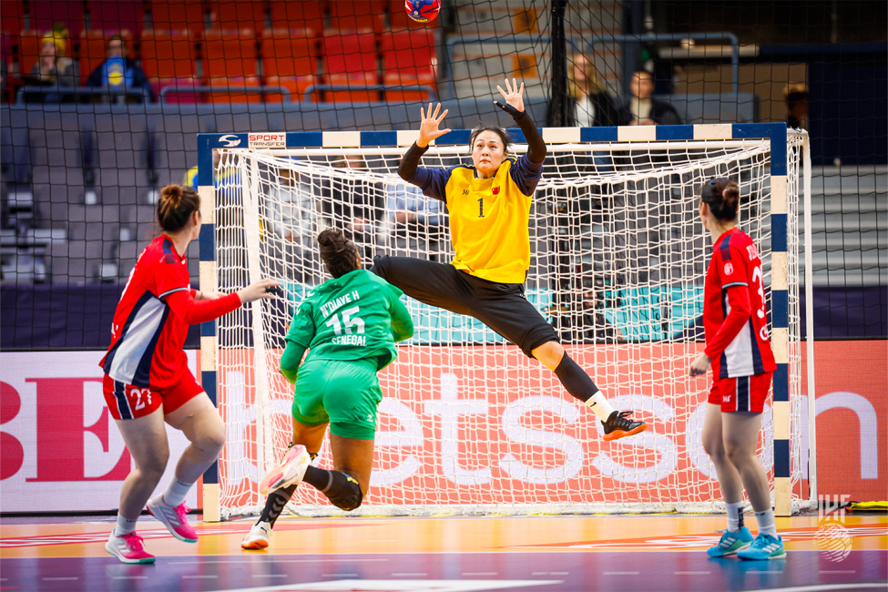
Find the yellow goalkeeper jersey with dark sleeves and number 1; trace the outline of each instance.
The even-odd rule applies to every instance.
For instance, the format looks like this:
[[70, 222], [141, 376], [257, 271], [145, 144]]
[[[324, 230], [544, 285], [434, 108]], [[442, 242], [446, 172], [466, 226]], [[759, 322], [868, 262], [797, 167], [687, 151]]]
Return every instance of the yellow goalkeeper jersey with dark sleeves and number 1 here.
[[475, 167], [418, 168], [411, 179], [425, 195], [441, 199], [450, 214], [457, 270], [487, 281], [523, 283], [530, 267], [530, 205], [542, 163], [506, 158], [492, 179]]

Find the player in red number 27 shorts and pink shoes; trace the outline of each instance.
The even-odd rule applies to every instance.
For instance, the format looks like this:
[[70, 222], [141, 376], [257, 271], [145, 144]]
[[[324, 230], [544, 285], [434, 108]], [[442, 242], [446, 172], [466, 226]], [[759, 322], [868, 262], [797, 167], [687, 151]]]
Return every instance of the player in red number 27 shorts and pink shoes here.
[[[163, 229], [129, 274], [114, 323], [105, 370], [105, 400], [136, 467], [120, 492], [117, 526], [105, 549], [124, 563], [153, 563], [136, 534], [142, 508], [180, 540], [197, 542], [189, 525], [185, 496], [215, 462], [225, 444], [225, 426], [207, 393], [194, 380], [182, 347], [189, 325], [208, 322], [242, 303], [269, 298], [273, 280], [251, 283], [238, 292], [191, 289], [185, 250], [200, 232], [200, 199], [194, 189], [169, 185], [158, 201]], [[167, 466], [164, 422], [181, 430], [185, 449], [167, 490], [148, 500]]]

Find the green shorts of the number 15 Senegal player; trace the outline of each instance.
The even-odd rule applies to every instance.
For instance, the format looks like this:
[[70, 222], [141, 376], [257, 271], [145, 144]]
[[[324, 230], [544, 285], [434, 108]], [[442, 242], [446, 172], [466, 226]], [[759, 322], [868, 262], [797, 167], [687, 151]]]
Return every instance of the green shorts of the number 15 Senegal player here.
[[304, 425], [330, 422], [330, 433], [373, 440], [383, 400], [376, 360], [310, 360], [299, 367], [293, 418]]

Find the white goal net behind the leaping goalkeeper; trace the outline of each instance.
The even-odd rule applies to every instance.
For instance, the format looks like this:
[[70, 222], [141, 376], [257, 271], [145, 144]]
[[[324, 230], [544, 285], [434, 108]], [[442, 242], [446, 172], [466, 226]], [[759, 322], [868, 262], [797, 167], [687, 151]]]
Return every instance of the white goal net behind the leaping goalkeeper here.
[[[219, 320], [219, 410], [228, 426], [219, 459], [223, 518], [260, 511], [260, 477], [291, 440], [292, 386], [278, 368], [295, 307], [329, 278], [318, 232], [351, 230], [366, 268], [383, 254], [451, 260], [446, 209], [397, 175], [405, 149], [219, 149], [218, 289], [272, 277], [285, 291], [281, 300]], [[810, 491], [801, 136], [789, 135], [788, 152], [789, 483], [798, 509]], [[438, 146], [422, 164], [469, 161], [464, 145]], [[604, 442], [596, 416], [541, 363], [475, 319], [405, 297], [415, 333], [380, 373], [372, 488], [357, 513], [719, 511], [715, 469], [701, 444], [709, 377], [687, 375], [702, 350], [711, 244], [698, 196], [712, 177], [740, 184], [739, 225], [760, 248], [770, 316], [769, 139], [550, 144], [530, 214], [526, 297], [614, 407], [643, 418], [648, 431]], [[759, 443], [769, 475], [773, 422], [769, 405]], [[315, 464], [332, 468], [326, 441]], [[289, 507], [301, 515], [341, 513], [311, 486], [299, 487]]]

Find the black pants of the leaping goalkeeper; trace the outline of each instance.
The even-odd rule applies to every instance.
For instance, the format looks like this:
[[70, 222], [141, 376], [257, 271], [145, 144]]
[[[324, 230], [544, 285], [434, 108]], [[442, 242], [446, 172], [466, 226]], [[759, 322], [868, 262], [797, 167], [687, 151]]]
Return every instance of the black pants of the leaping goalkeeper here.
[[475, 317], [528, 358], [540, 345], [560, 342], [552, 325], [527, 301], [524, 284], [482, 280], [448, 263], [388, 255], [377, 256], [371, 271], [411, 298]]

